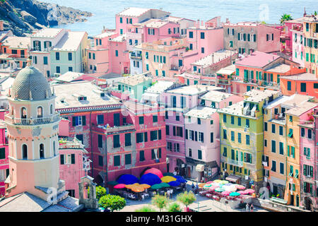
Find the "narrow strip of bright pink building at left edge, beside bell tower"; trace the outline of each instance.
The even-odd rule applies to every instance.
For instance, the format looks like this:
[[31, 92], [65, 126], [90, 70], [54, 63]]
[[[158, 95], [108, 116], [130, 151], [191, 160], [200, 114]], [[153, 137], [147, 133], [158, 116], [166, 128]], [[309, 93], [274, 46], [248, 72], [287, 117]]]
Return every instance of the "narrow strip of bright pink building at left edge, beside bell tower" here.
[[9, 174], [8, 165], [8, 140], [6, 138], [6, 126], [0, 125], [0, 196], [4, 196], [5, 184], [4, 181]]

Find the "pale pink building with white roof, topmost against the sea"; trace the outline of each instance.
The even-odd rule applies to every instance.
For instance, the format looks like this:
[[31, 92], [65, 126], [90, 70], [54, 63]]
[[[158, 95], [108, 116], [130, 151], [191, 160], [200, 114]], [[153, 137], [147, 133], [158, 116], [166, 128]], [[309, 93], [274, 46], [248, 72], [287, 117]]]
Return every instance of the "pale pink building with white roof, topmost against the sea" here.
[[132, 24], [141, 23], [151, 18], [165, 18], [169, 15], [168, 12], [152, 8], [125, 8], [124, 11], [116, 14], [116, 32], [123, 35]]

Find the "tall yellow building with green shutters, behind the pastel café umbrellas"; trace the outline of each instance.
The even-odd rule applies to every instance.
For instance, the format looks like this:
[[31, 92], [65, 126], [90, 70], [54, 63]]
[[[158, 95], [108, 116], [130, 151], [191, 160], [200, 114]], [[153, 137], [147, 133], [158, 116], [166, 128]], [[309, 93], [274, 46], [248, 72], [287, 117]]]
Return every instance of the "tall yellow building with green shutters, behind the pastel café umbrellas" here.
[[263, 165], [263, 112], [266, 103], [275, 100], [278, 91], [251, 90], [245, 100], [218, 109], [220, 114], [220, 155], [223, 175], [235, 175], [238, 181], [255, 189], [264, 180]]

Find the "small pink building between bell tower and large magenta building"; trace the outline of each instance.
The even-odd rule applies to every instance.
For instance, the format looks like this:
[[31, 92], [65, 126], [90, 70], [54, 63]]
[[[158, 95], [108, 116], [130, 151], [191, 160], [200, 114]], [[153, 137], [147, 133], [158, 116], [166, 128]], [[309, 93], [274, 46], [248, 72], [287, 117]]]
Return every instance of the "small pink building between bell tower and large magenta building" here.
[[90, 160], [86, 156], [81, 141], [59, 141], [59, 177], [65, 182], [65, 189], [69, 196], [79, 198], [79, 186], [81, 178], [90, 170]]

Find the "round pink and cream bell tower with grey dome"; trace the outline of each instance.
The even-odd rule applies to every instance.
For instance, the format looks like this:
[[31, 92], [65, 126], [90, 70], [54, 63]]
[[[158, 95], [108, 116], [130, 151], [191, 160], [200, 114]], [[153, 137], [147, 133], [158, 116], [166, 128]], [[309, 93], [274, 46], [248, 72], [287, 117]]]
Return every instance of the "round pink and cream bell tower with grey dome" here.
[[47, 79], [33, 66], [22, 69], [13, 81], [5, 116], [9, 150], [7, 197], [28, 191], [47, 201], [52, 191], [56, 196], [66, 192], [64, 182], [59, 181], [60, 117], [54, 100]]

